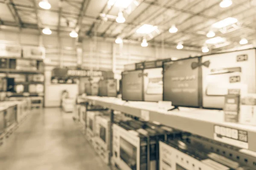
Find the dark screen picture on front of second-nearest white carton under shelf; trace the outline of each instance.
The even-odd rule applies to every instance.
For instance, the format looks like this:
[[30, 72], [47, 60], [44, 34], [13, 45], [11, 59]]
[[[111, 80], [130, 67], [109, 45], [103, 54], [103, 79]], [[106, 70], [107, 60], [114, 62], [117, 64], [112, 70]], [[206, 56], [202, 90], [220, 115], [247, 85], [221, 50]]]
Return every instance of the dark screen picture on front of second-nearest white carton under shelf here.
[[137, 148], [122, 137], [120, 137], [120, 158], [132, 170], [137, 169]]

